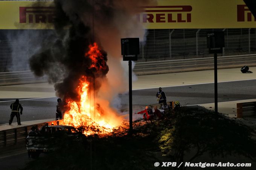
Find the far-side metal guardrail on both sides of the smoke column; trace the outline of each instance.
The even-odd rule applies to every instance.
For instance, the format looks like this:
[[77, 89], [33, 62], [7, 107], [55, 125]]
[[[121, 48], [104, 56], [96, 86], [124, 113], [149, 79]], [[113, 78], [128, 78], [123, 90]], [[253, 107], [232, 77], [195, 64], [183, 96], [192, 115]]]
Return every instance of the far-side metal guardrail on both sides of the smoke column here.
[[[244, 65], [256, 66], [256, 54], [218, 57], [218, 69], [241, 68]], [[136, 75], [150, 75], [209, 69], [214, 69], [213, 57], [137, 62], [133, 71]], [[0, 86], [42, 82], [47, 82], [47, 77], [35, 77], [31, 71], [0, 73]]]

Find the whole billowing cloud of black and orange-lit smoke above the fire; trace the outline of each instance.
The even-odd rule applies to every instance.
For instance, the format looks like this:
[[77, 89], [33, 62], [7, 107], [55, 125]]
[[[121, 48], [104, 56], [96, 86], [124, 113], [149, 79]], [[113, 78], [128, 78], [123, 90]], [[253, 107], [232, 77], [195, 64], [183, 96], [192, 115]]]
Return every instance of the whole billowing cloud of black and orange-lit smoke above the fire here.
[[[128, 89], [128, 62], [122, 63], [120, 38], [139, 37], [145, 29], [137, 21], [140, 6], [156, 5], [156, 0], [55, 0], [55, 38], [44, 41], [30, 57], [30, 69], [37, 76], [47, 75], [56, 96], [79, 100], [75, 91], [79, 78], [94, 81], [98, 101], [113, 101]], [[89, 45], [97, 42], [108, 67], [102, 72], [89, 69], [85, 57]], [[104, 50], [104, 51], [103, 51]]]

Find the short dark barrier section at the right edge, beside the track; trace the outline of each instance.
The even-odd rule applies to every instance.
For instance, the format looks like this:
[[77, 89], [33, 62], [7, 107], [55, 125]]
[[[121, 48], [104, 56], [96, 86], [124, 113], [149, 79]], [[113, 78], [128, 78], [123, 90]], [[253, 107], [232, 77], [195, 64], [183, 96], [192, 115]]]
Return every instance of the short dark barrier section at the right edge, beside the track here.
[[243, 118], [256, 115], [256, 102], [244, 102], [236, 104], [236, 117]]

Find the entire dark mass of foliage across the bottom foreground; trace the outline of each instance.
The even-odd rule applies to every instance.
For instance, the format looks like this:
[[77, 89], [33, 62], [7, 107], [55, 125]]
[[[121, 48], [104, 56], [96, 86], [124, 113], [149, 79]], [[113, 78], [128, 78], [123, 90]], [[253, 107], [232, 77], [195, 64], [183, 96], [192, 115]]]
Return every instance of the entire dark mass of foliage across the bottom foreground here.
[[138, 120], [133, 135], [128, 127], [124, 122], [110, 135], [85, 137], [83, 142], [61, 138], [58, 150], [29, 162], [26, 170], [148, 170], [157, 161], [193, 161], [205, 153], [256, 158], [253, 129], [211, 111], [183, 108], [162, 120]]

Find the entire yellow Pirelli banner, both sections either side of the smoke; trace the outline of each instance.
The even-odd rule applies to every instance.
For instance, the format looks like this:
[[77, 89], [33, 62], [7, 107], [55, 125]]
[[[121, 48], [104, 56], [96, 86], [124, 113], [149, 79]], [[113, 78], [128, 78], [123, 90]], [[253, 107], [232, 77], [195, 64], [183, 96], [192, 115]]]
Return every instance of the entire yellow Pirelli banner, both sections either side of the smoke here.
[[[54, 3], [0, 1], [0, 29], [53, 29]], [[243, 0], [158, 0], [137, 16], [147, 29], [255, 28]]]

